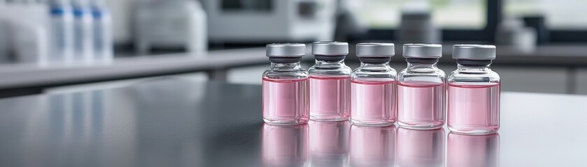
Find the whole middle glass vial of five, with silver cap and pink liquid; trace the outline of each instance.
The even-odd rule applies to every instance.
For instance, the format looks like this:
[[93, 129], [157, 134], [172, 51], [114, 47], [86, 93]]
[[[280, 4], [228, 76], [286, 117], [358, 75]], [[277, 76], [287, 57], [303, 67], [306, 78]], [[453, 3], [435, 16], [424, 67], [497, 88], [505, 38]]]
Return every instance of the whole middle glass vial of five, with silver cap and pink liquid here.
[[361, 66], [351, 73], [351, 122], [355, 125], [393, 125], [396, 115], [397, 72], [389, 66], [395, 55], [392, 43], [360, 43]]

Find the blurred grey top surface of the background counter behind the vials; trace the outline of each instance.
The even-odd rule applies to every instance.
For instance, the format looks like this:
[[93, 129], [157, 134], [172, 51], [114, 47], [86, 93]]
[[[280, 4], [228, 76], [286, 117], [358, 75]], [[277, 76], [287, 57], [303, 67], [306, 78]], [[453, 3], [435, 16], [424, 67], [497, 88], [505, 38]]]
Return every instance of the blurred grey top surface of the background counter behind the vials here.
[[[354, 45], [350, 45], [348, 61], [358, 61]], [[443, 47], [440, 63], [454, 64], [451, 45]], [[304, 61], [313, 61], [310, 50]], [[402, 47], [396, 46], [392, 62], [403, 62]], [[76, 65], [0, 65], [0, 90], [48, 88], [96, 81], [154, 77], [187, 72], [208, 72], [213, 80], [224, 80], [232, 67], [268, 64], [264, 47], [208, 51], [201, 54], [167, 54], [115, 58], [111, 63]], [[535, 51], [521, 52], [497, 47], [494, 65], [546, 65], [564, 67], [587, 66], [585, 45], [539, 46]]]

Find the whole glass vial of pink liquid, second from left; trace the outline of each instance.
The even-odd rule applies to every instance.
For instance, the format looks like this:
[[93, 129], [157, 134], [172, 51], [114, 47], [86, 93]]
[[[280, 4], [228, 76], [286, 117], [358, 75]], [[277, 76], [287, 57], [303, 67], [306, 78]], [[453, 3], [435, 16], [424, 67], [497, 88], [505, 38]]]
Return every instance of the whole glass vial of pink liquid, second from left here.
[[348, 120], [350, 115], [351, 67], [344, 64], [348, 54], [346, 42], [314, 42], [312, 54], [316, 65], [310, 74], [310, 119], [317, 121]]

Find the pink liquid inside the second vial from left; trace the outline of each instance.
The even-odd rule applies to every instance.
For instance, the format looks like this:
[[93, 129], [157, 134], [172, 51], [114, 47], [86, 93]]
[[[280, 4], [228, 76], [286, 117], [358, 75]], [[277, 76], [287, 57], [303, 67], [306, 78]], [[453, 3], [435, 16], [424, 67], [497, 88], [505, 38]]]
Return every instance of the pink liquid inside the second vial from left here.
[[310, 77], [310, 119], [347, 120], [350, 77]]

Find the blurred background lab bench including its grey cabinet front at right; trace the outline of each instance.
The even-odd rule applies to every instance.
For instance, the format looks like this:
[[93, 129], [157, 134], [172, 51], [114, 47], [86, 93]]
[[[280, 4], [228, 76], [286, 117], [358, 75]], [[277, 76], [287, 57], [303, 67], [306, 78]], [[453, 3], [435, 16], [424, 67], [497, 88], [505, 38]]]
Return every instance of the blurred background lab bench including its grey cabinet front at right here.
[[[443, 48], [444, 56], [439, 61], [439, 67], [447, 73], [456, 67], [450, 46]], [[392, 58], [392, 66], [401, 70], [404, 67], [404, 60], [400, 57], [402, 47], [396, 48], [397, 56]], [[358, 59], [353, 56], [354, 45], [350, 51], [348, 63], [357, 63]], [[306, 52], [309, 54], [309, 49]], [[132, 56], [91, 65], [0, 65], [0, 97], [42, 93], [55, 86], [191, 72], [206, 72], [213, 81], [226, 81], [227, 70], [269, 64], [262, 47], [204, 54]], [[312, 62], [313, 56], [305, 56], [304, 61]], [[497, 59], [493, 63], [493, 69], [502, 75], [504, 90], [537, 93], [587, 94], [586, 67], [587, 47], [584, 45], [539, 46], [532, 52], [498, 46]]]

